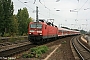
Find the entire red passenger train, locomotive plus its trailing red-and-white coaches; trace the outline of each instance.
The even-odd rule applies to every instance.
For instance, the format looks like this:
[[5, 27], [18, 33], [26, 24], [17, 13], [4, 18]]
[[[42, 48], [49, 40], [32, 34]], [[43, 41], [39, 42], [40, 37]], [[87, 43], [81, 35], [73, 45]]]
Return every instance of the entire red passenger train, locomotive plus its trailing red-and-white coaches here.
[[79, 31], [58, 28], [50, 22], [30, 22], [28, 26], [28, 40], [34, 44], [55, 40], [61, 36], [77, 35]]

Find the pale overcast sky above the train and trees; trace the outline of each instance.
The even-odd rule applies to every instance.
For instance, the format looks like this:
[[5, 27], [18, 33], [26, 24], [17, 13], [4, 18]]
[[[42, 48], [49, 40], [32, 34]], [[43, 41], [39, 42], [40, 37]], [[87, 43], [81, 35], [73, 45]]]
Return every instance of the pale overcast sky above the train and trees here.
[[39, 19], [54, 19], [58, 27], [90, 31], [90, 0], [12, 0], [14, 14], [26, 7], [29, 16], [36, 20], [36, 6]]

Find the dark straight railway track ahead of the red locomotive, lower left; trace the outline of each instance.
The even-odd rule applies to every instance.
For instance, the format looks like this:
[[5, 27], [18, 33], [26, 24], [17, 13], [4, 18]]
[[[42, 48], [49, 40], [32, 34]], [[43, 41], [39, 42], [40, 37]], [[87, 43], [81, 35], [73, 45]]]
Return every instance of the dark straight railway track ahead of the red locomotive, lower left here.
[[22, 51], [28, 50], [36, 45], [31, 44], [30, 42], [20, 43], [14, 46], [9, 46], [6, 49], [0, 50], [0, 58], [1, 57], [10, 57]]

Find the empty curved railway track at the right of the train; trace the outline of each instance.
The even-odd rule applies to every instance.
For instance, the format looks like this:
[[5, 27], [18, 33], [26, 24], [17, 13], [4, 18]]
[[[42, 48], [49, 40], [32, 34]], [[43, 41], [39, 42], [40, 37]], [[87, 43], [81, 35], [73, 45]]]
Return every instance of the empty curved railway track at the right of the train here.
[[79, 37], [74, 37], [72, 39], [72, 45], [81, 60], [90, 60], [90, 49], [79, 41]]

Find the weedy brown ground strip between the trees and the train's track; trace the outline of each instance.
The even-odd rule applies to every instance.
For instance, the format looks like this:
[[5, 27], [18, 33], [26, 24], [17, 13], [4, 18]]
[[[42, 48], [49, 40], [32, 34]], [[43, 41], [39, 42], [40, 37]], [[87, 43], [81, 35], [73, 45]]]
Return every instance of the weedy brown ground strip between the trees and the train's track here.
[[12, 46], [18, 43], [27, 42], [27, 36], [17, 36], [17, 37], [0, 37], [0, 49], [6, 46]]

